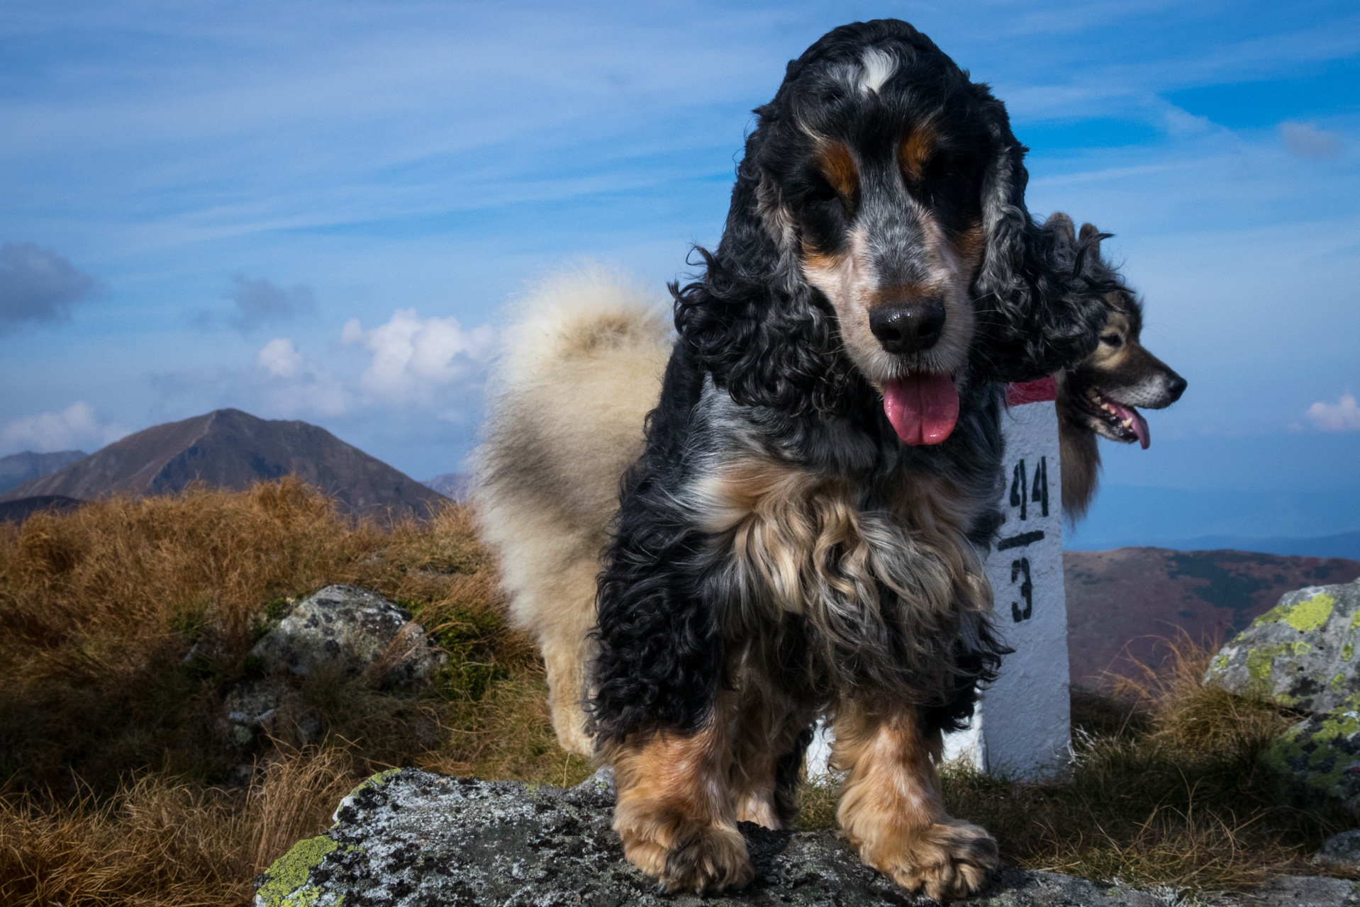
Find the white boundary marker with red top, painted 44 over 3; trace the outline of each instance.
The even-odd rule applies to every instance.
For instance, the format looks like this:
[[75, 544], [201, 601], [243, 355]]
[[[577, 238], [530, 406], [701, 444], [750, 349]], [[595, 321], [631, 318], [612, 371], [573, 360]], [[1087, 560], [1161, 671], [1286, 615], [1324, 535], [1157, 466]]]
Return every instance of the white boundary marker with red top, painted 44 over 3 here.
[[[1072, 742], [1058, 413], [1051, 378], [1012, 385], [1008, 396], [1005, 522], [985, 570], [996, 628], [1015, 653], [983, 691], [972, 723], [945, 736], [944, 753], [986, 772], [1047, 779], [1066, 771]], [[809, 778], [827, 774], [830, 755], [830, 733], [819, 726]]]

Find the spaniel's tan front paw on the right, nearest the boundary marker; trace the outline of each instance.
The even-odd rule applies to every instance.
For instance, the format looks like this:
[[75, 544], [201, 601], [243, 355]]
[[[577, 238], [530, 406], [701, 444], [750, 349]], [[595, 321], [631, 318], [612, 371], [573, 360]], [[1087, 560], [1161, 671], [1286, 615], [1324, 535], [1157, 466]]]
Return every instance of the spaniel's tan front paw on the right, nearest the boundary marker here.
[[902, 835], [895, 847], [861, 858], [907, 891], [922, 891], [936, 900], [967, 897], [987, 884], [1001, 862], [997, 842], [985, 828], [947, 819], [929, 828]]

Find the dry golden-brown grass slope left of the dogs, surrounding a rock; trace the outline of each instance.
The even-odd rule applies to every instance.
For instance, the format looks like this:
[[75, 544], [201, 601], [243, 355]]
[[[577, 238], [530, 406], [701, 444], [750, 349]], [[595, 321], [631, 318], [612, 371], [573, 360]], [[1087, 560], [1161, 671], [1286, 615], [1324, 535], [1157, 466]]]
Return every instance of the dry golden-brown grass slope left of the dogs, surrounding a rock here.
[[[223, 789], [252, 760], [218, 722], [243, 655], [284, 598], [333, 582], [412, 609], [447, 668], [419, 698], [307, 679], [250, 787]], [[454, 504], [356, 524], [284, 480], [0, 524], [0, 904], [249, 903], [252, 877], [374, 770], [586, 774]]]

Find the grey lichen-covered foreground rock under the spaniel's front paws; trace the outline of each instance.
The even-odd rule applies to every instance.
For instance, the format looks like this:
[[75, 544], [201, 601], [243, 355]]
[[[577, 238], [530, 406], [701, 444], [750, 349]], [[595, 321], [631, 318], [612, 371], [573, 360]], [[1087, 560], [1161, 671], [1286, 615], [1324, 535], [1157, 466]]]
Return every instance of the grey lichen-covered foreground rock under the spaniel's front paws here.
[[[624, 858], [609, 828], [613, 794], [601, 776], [571, 790], [447, 778], [415, 768], [359, 785], [324, 835], [299, 842], [256, 878], [257, 907], [800, 907], [932, 904], [864, 866], [835, 832], [741, 827], [755, 881], [726, 895], [662, 895]], [[1319, 888], [1321, 885], [1321, 888]], [[1312, 889], [1330, 900], [1318, 900]], [[1296, 891], [1297, 889], [1297, 891]], [[1293, 893], [1288, 893], [1293, 892]], [[1302, 880], [1292, 900], [1204, 903], [1357, 904], [1350, 883]], [[1297, 899], [1299, 892], [1307, 899]], [[1174, 907], [1175, 892], [1004, 869], [970, 907]]]

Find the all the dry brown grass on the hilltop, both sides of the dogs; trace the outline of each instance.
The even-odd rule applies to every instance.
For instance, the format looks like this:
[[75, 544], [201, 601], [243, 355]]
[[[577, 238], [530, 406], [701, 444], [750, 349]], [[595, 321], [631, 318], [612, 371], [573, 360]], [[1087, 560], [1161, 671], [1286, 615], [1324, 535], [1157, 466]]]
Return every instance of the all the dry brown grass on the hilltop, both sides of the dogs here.
[[[294, 480], [0, 524], [0, 906], [246, 904], [257, 872], [392, 766], [579, 782], [590, 766], [558, 748], [495, 581], [464, 507], [355, 522]], [[246, 653], [290, 598], [336, 582], [412, 611], [446, 668], [418, 696], [381, 672], [294, 681], [268, 745], [233, 749], [219, 718], [260, 670]], [[1205, 658], [1180, 645], [1115, 696], [1074, 691], [1069, 781], [949, 768], [949, 810], [1012, 863], [1091, 878], [1213, 889], [1312, 872], [1306, 855], [1348, 819], [1258, 768], [1292, 717], [1200, 687]], [[835, 785], [802, 804], [802, 827], [835, 825]]]

